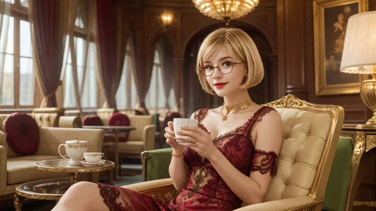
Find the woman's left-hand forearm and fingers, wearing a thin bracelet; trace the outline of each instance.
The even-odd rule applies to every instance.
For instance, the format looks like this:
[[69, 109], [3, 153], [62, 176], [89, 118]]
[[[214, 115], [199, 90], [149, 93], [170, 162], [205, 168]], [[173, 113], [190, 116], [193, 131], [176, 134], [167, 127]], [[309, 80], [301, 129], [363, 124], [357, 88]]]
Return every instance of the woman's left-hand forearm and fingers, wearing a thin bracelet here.
[[[193, 119], [194, 113], [191, 116], [191, 119]], [[168, 135], [165, 135], [165, 137], [168, 139], [167, 143], [172, 146], [172, 153], [174, 155], [181, 155], [183, 153], [183, 147], [176, 141], [171, 141], [172, 139], [175, 139], [175, 133], [173, 130], [173, 122], [169, 122], [169, 127], [166, 127], [166, 133]], [[181, 191], [183, 188], [185, 188], [187, 182], [188, 182], [188, 174], [189, 174], [189, 167], [184, 162], [184, 155], [181, 155], [180, 157], [171, 157], [171, 162], [169, 166], [169, 174], [172, 179], [172, 182], [174, 184], [174, 187], [177, 191]]]

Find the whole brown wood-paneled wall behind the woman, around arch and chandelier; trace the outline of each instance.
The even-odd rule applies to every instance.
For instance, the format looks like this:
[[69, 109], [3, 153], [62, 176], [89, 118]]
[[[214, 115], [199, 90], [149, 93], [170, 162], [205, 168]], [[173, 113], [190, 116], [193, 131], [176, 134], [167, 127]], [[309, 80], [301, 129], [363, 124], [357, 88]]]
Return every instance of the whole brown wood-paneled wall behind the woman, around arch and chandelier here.
[[[146, 61], [152, 59], [152, 46], [161, 36], [167, 36], [174, 51], [172, 59], [179, 61], [175, 62], [174, 82], [181, 90], [183, 101], [190, 99], [187, 95], [198, 95], [200, 88], [186, 87], [183, 83], [184, 71], [195, 74], [186, 68], [186, 55], [190, 55], [192, 50], [190, 41], [203, 29], [215, 29], [224, 24], [202, 15], [191, 0], [127, 0], [121, 1], [121, 6], [129, 14], [138, 69], [150, 68]], [[166, 9], [174, 13], [173, 23], [168, 28], [163, 27], [159, 17]], [[369, 10], [374, 9], [376, 0], [369, 0]], [[364, 105], [359, 94], [315, 95], [313, 0], [263, 0], [252, 13], [233, 22], [236, 22], [235, 27], [243, 25], [259, 31], [269, 42], [271, 52], [265, 58], [271, 61], [270, 65], [275, 71], [272, 80], [268, 79], [266, 83], [269, 84], [266, 88], [271, 90], [268, 92], [271, 96], [266, 99], [274, 100], [291, 93], [314, 103], [338, 104], [345, 109], [345, 123], [364, 123], [371, 117], [372, 112]], [[180, 109], [193, 103], [178, 102]], [[221, 103], [217, 99], [210, 100], [210, 97], [206, 102], [210, 105]], [[191, 112], [193, 109], [188, 110]]]

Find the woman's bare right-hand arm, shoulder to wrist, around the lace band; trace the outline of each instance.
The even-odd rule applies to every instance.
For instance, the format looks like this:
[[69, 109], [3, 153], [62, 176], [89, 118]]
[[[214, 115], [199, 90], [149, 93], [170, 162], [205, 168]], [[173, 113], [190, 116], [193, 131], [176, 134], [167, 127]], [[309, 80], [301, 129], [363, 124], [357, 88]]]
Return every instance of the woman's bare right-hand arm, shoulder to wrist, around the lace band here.
[[[281, 117], [278, 112], [271, 111], [266, 114], [260, 122], [257, 122], [255, 129], [255, 150], [274, 152], [276, 156], [282, 143]], [[265, 156], [268, 155], [265, 154]], [[264, 158], [263, 155], [259, 153], [254, 154], [253, 157], [252, 171], [249, 177], [232, 166], [219, 150], [207, 157], [231, 191], [247, 205], [260, 203], [264, 199], [271, 176], [273, 176], [270, 174], [273, 173], [271, 171], [260, 172], [258, 168], [255, 168], [260, 165], [260, 162], [264, 162], [260, 160], [260, 158]]]

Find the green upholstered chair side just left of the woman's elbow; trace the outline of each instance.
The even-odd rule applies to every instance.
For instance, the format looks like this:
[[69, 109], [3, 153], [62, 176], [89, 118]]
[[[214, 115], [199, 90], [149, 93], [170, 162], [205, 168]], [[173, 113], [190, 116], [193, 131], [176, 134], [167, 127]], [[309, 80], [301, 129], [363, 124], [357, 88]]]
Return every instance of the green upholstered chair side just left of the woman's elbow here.
[[141, 153], [143, 181], [170, 178], [169, 163], [172, 148], [154, 149]]

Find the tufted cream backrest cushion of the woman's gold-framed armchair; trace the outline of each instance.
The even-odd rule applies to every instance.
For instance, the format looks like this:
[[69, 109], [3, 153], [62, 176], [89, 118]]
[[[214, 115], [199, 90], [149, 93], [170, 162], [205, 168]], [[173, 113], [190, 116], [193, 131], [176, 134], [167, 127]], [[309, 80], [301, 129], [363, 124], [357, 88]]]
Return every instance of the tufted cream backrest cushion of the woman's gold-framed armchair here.
[[276, 110], [282, 117], [283, 144], [277, 175], [264, 201], [308, 194], [332, 121], [329, 114], [290, 108]]

